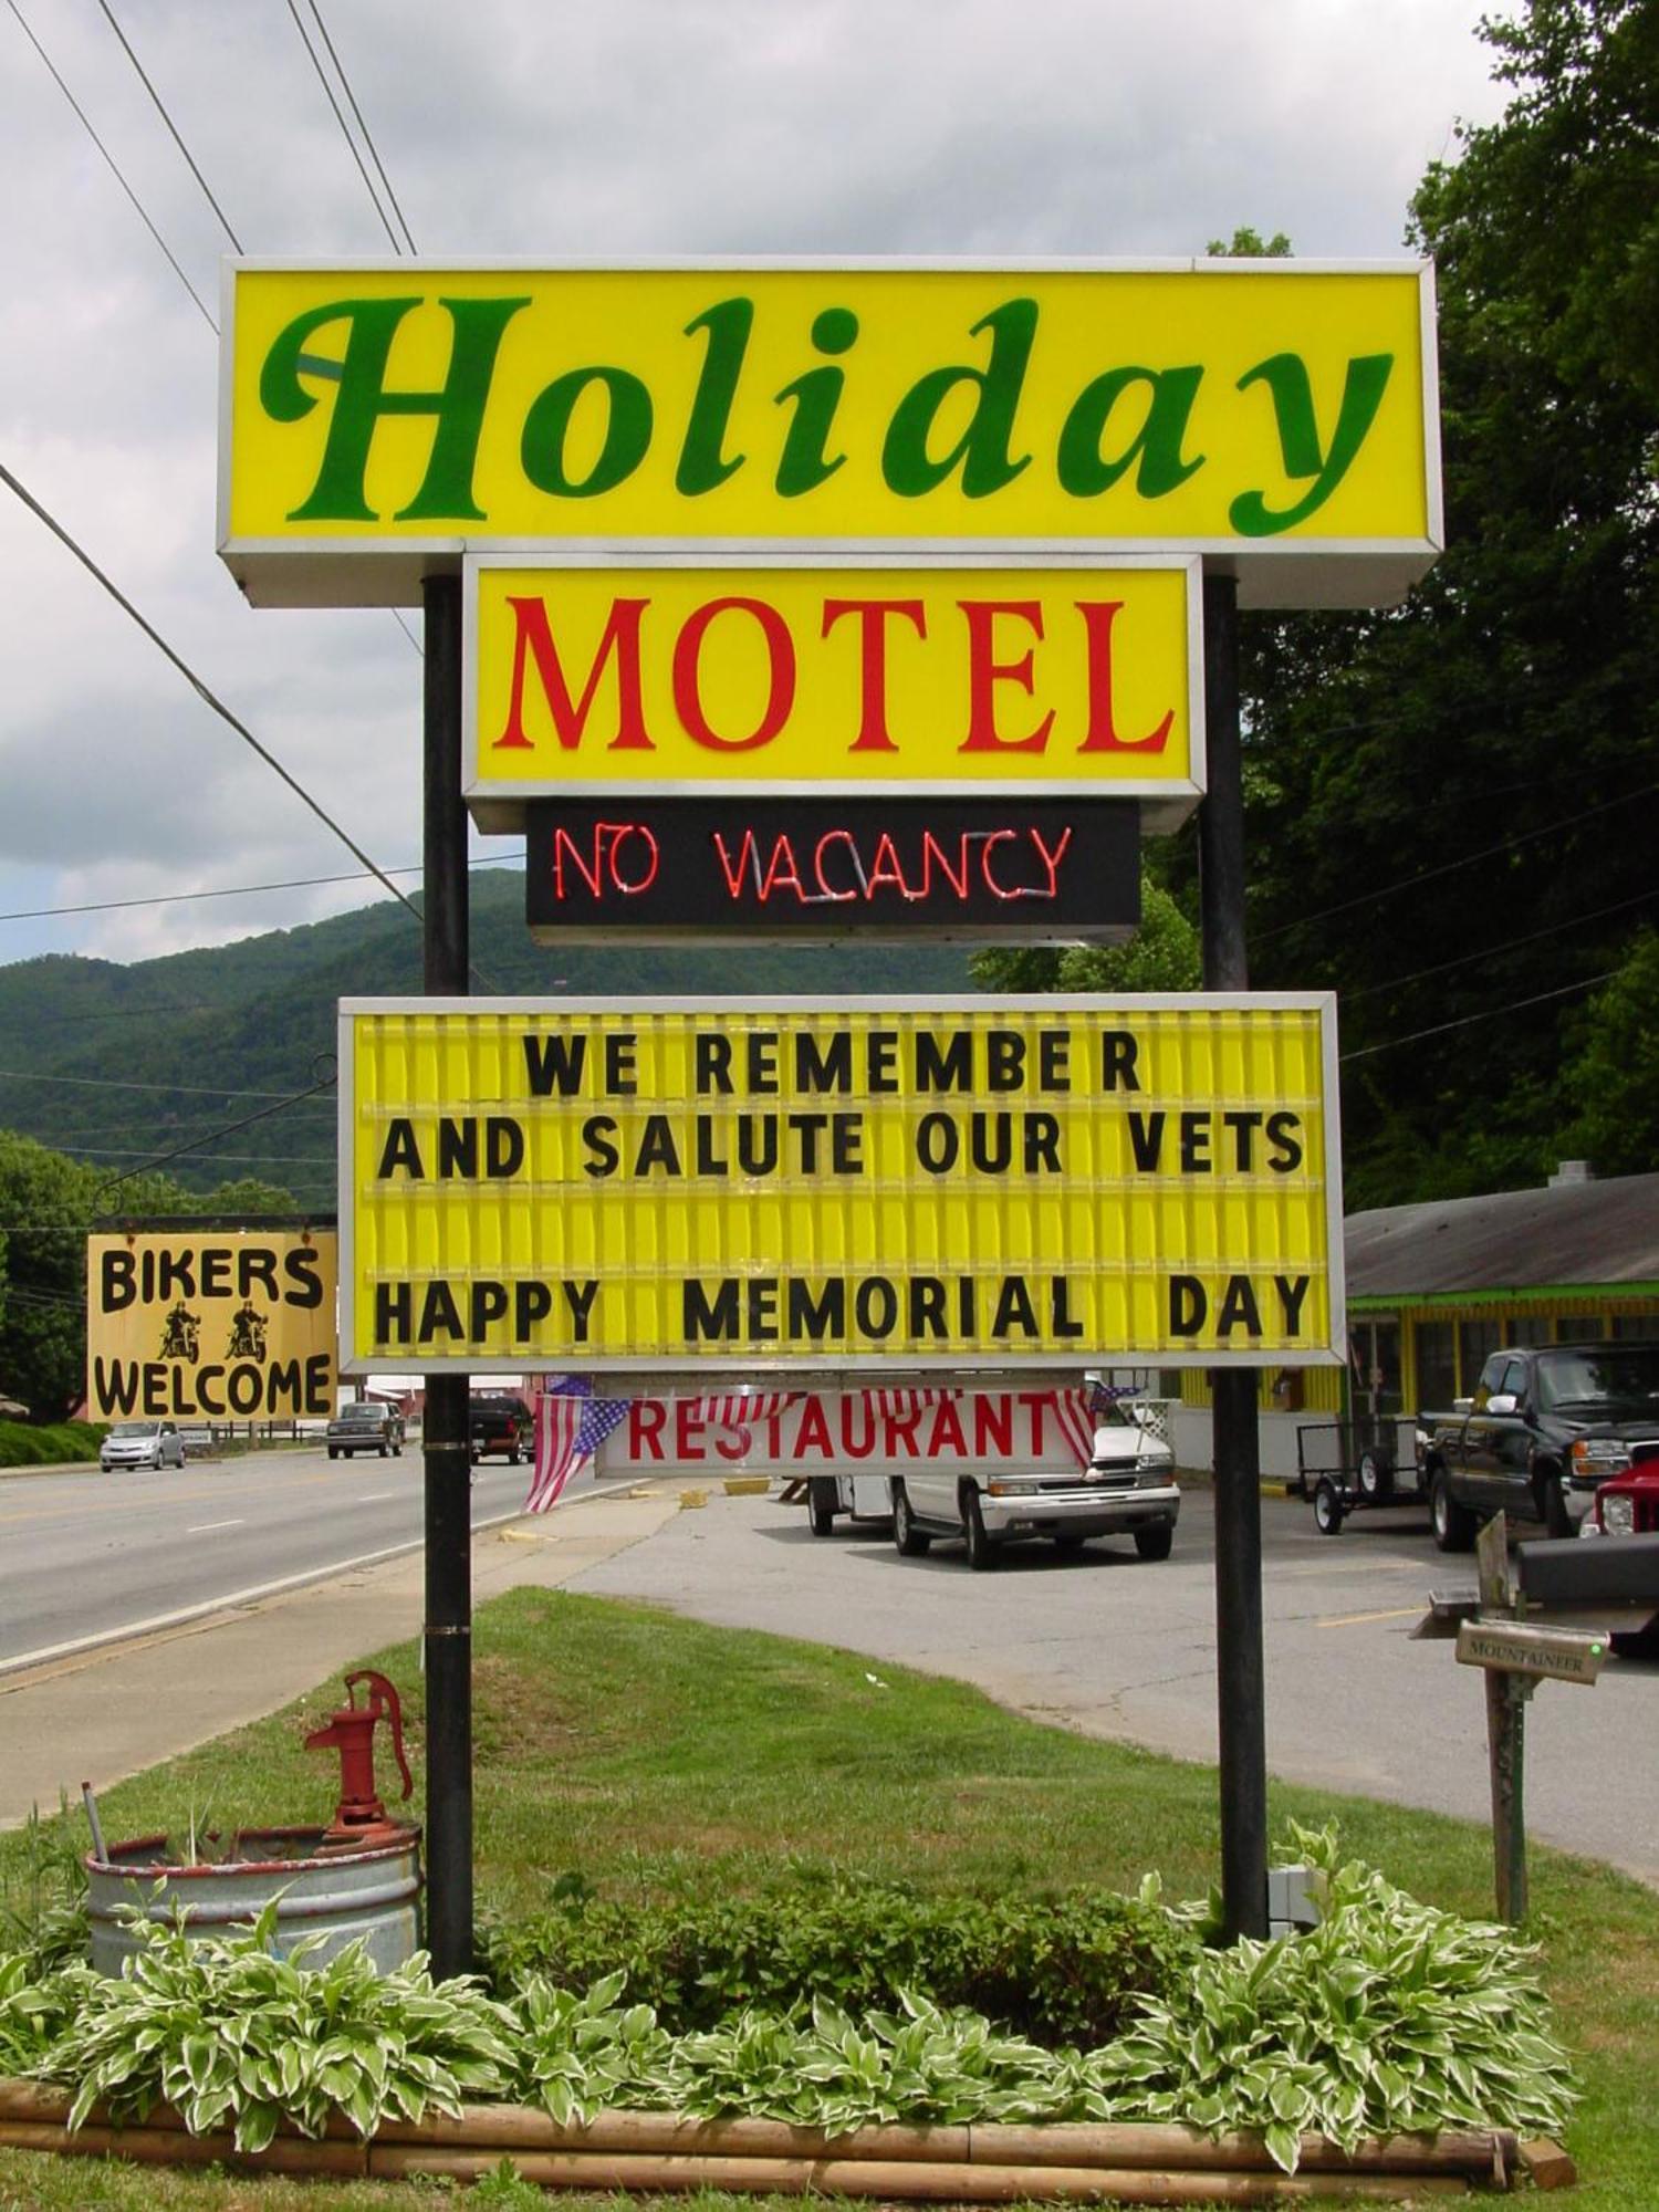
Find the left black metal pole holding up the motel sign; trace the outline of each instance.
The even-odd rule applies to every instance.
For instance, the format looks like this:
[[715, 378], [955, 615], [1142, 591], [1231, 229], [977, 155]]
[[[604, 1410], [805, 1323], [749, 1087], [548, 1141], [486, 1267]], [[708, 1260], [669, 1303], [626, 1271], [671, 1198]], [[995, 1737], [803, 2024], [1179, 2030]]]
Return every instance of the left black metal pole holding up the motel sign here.
[[[467, 991], [467, 807], [460, 796], [460, 577], [422, 584], [425, 905], [429, 995]], [[447, 1978], [473, 1964], [473, 1531], [467, 1376], [427, 1376], [427, 1949]]]

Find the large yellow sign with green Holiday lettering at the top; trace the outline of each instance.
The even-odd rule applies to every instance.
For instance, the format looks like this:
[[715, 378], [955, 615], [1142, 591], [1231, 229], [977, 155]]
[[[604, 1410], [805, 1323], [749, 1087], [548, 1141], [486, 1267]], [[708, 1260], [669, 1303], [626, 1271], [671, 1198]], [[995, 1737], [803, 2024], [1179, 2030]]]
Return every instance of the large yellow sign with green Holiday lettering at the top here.
[[1440, 546], [1431, 274], [1199, 261], [232, 263], [219, 549], [265, 604], [630, 540], [1225, 553], [1365, 606]]

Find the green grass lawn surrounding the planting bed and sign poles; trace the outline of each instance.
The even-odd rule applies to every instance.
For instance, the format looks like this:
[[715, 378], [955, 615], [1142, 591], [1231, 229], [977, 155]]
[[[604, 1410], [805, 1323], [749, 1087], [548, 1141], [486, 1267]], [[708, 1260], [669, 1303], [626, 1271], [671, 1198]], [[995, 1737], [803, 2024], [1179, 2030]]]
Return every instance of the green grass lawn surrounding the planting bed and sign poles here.
[[[414, 1646], [369, 1663], [403, 1692], [420, 1776]], [[332, 1812], [334, 1763], [301, 1747], [338, 1701], [301, 1708], [137, 1776], [102, 1801], [111, 1840], [274, 1827]], [[1217, 1776], [1015, 1719], [958, 1683], [852, 1652], [706, 1628], [568, 1593], [515, 1590], [476, 1624], [480, 1918], [546, 1900], [566, 1869], [613, 1896], [750, 1889], [779, 1871], [902, 1876], [938, 1887], [1110, 1882], [1157, 1867], [1172, 1896], [1219, 1863]], [[1632, 1745], [1632, 1756], [1650, 1756]], [[385, 1774], [385, 1763], [383, 1763]], [[418, 1814], [418, 1803], [416, 1803]], [[1345, 1851], [1418, 1896], [1486, 1918], [1484, 1829], [1365, 1798], [1274, 1787], [1272, 1816], [1336, 1818]], [[71, 1820], [80, 1847], [80, 1814]], [[24, 1838], [0, 1838], [0, 1902]], [[1533, 1851], [1533, 1936], [1584, 2077], [1568, 2148], [1586, 2177], [1573, 2212], [1659, 2205], [1659, 1898], [1588, 1860]], [[0, 2150], [0, 2212], [166, 2205], [177, 2212], [414, 2212], [438, 2185], [325, 2185], [157, 2174]], [[462, 2201], [546, 2201], [487, 2183]], [[754, 2205], [721, 2199], [721, 2205]]]

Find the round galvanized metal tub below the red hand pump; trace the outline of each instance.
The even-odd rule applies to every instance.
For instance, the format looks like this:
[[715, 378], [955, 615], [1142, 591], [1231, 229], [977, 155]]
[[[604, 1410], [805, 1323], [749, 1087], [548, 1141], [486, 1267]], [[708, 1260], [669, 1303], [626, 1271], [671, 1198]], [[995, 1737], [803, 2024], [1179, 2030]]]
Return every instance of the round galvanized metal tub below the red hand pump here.
[[[119, 1978], [139, 1947], [128, 1918], [170, 1922], [184, 1907], [192, 1938], [228, 1936], [276, 1900], [272, 1949], [288, 1958], [305, 1936], [323, 1942], [310, 1962], [325, 1964], [358, 1936], [380, 1973], [420, 1949], [420, 1829], [369, 1849], [323, 1849], [321, 1827], [241, 1829], [226, 1858], [179, 1865], [166, 1836], [117, 1843], [108, 1858], [86, 1854], [86, 1909], [93, 1966]], [[385, 1834], [385, 1832], [383, 1832]], [[217, 1838], [208, 1838], [215, 1843]]]

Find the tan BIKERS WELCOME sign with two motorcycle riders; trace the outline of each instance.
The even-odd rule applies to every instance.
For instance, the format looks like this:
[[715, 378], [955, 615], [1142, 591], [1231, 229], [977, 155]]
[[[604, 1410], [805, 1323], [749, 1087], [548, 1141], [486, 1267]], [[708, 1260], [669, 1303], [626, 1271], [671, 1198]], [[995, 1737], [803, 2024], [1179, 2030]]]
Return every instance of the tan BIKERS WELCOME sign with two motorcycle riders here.
[[332, 1413], [334, 1276], [334, 1230], [88, 1237], [93, 1418]]

